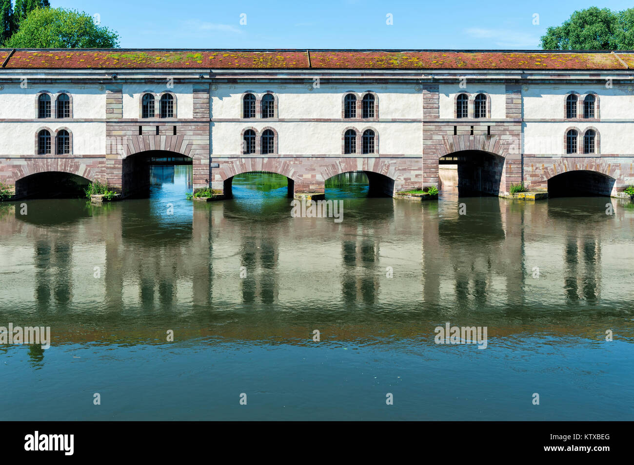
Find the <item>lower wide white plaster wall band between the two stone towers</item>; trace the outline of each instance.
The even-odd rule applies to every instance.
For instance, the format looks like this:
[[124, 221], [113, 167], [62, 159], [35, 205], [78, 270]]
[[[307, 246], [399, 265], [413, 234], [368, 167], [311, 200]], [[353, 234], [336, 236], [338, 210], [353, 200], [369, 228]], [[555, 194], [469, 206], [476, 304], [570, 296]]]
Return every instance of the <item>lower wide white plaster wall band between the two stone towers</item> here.
[[[342, 154], [341, 137], [345, 128], [354, 127], [359, 132], [373, 128], [378, 133], [378, 154], [422, 154], [422, 129], [420, 123], [380, 123], [372, 121], [333, 121], [321, 123], [247, 121], [224, 122], [212, 125], [212, 151], [214, 156], [242, 155], [242, 130], [254, 127], [258, 137], [264, 127], [272, 127], [278, 133], [280, 155], [336, 155]], [[358, 148], [360, 154], [361, 147]]]

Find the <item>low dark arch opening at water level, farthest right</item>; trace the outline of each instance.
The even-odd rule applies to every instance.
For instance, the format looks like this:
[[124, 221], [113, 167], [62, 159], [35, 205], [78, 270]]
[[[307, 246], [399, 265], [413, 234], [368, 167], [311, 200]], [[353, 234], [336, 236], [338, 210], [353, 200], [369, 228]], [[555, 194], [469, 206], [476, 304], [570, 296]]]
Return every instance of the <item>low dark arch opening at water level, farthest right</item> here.
[[548, 197], [609, 197], [615, 182], [616, 179], [598, 171], [566, 171], [548, 179]]

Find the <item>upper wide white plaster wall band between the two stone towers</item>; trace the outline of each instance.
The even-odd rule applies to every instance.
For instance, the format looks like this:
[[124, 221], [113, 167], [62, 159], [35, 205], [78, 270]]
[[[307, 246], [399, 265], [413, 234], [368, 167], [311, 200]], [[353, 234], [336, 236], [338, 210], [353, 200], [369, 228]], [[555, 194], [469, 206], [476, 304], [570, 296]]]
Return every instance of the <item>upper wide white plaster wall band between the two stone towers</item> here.
[[[422, 93], [414, 90], [414, 85], [379, 86], [343, 86], [321, 85], [318, 89], [308, 90], [307, 85], [245, 84], [219, 85], [211, 92], [212, 117], [228, 119], [240, 118], [242, 96], [251, 92], [261, 97], [266, 92], [278, 96], [278, 116], [284, 119], [298, 118], [341, 118], [343, 98], [348, 92], [360, 96], [372, 90], [378, 96], [378, 116], [384, 118], [412, 119], [422, 117]], [[124, 104], [125, 108], [125, 104]]]

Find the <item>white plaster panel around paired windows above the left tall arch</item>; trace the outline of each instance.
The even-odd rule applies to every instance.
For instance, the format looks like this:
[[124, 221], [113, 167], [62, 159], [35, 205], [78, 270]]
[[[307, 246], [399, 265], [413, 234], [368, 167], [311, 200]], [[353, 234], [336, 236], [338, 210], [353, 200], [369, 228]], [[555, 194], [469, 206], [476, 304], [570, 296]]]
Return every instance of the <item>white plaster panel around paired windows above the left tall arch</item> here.
[[[151, 83], [124, 84], [122, 87], [124, 118], [141, 118], [141, 96], [145, 92], [153, 92], [154, 94], [172, 92], [176, 96], [177, 102], [176, 115], [174, 116], [181, 119], [193, 118], [193, 84], [174, 84], [172, 89], [168, 89], [167, 82], [160, 85]], [[154, 104], [156, 113], [158, 113], [159, 108], [159, 99], [157, 99]], [[105, 109], [103, 115], [105, 115]], [[104, 116], [101, 117], [103, 118]]]

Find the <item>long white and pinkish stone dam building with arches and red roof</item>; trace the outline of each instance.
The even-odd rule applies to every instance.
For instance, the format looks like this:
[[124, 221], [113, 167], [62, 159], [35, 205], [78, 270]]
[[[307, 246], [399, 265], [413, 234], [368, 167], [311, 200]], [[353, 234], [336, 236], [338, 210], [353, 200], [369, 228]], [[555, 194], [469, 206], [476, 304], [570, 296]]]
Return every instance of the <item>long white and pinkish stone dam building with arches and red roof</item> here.
[[[365, 171], [373, 194], [458, 186], [619, 195], [634, 183], [634, 53], [0, 51], [0, 182], [16, 197], [77, 177], [124, 197], [153, 163], [231, 194], [269, 171], [291, 193]], [[442, 185], [440, 186], [442, 188]]]

